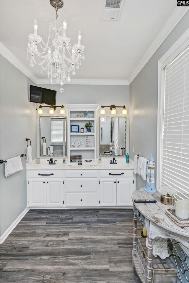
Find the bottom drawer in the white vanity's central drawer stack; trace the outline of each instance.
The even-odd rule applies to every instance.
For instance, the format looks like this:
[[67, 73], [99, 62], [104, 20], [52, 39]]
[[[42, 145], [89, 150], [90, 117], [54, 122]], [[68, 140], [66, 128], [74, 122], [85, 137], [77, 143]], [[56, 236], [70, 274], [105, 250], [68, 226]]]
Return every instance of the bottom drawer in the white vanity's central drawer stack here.
[[97, 192], [83, 192], [83, 193], [65, 193], [65, 206], [97, 206], [98, 194]]

